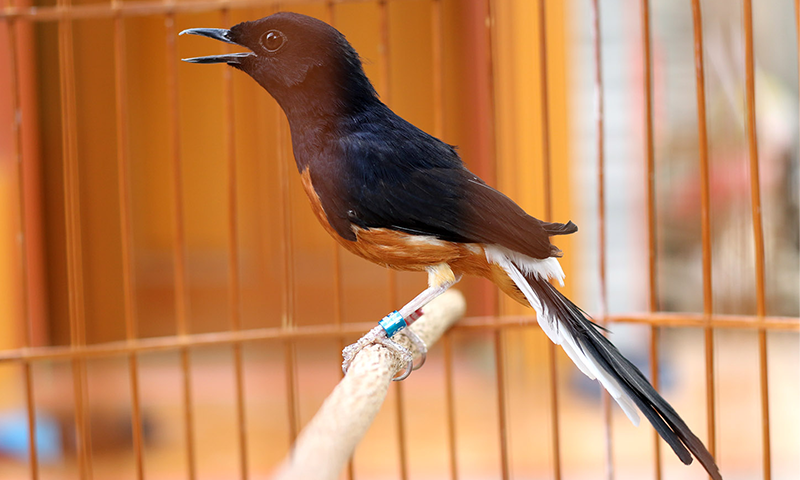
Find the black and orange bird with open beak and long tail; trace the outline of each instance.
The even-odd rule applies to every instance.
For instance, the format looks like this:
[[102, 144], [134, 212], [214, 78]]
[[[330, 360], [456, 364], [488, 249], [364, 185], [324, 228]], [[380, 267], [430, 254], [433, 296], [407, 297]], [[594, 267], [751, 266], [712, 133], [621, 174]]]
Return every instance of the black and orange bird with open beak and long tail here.
[[[364, 346], [399, 352], [405, 378], [421, 366], [391, 337], [463, 275], [483, 277], [536, 311], [575, 365], [597, 379], [631, 421], [641, 412], [684, 464], [719, 468], [702, 441], [590, 316], [561, 294], [561, 250], [551, 237], [572, 222], [545, 222], [470, 172], [456, 148], [395, 114], [379, 98], [356, 50], [327, 23], [292, 12], [224, 28], [190, 28], [247, 51], [183, 59], [227, 64], [258, 82], [289, 122], [295, 163], [322, 227], [346, 250], [384, 267], [426, 272], [428, 288], [345, 348], [343, 369]], [[423, 357], [424, 359], [424, 357]], [[423, 360], [424, 361], [424, 360]]]

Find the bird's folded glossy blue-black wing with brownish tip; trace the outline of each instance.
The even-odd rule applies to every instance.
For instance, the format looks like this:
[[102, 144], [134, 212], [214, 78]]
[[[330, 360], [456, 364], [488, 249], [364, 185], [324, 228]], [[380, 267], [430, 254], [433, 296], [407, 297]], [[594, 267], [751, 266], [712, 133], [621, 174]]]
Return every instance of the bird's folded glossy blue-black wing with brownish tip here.
[[355, 224], [499, 244], [547, 258], [559, 254], [550, 235], [577, 230], [571, 222], [551, 224], [528, 215], [467, 170], [453, 147], [399, 117], [394, 121], [389, 128], [339, 137], [327, 156], [336, 161], [312, 166], [314, 188], [342, 237], [355, 240]]

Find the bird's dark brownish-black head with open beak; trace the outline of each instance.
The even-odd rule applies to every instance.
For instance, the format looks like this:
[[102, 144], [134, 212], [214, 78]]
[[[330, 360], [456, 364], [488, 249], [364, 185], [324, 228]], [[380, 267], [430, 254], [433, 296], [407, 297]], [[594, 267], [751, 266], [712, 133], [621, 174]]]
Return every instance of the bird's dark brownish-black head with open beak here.
[[248, 48], [191, 63], [227, 63], [242, 70], [281, 104], [287, 115], [296, 108], [349, 108], [377, 98], [358, 53], [338, 30], [313, 17], [279, 12], [242, 22], [230, 30], [190, 28], [202, 35]]

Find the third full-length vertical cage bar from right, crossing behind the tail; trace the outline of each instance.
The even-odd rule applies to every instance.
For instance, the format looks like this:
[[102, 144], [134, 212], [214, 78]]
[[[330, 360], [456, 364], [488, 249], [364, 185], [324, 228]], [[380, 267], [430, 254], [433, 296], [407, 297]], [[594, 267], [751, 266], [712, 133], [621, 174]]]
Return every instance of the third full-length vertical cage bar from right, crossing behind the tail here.
[[[656, 196], [655, 196], [655, 153], [653, 148], [653, 61], [650, 45], [650, 2], [641, 2], [642, 23], [642, 50], [644, 67], [644, 144], [646, 161], [645, 189], [647, 196], [647, 249], [648, 249], [648, 310], [652, 313], [658, 310], [658, 294], [656, 284]], [[658, 389], [658, 338], [659, 329], [650, 327], [650, 376], [653, 387]], [[655, 478], [661, 479], [661, 440], [658, 432], [653, 431], [653, 449], [655, 452]]]

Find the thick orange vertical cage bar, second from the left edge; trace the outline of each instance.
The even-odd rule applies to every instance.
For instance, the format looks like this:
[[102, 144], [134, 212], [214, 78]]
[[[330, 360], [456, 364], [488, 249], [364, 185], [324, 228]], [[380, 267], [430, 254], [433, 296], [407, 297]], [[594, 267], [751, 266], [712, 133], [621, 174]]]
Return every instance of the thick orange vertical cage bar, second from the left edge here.
[[[58, 6], [69, 10], [68, 0]], [[58, 22], [58, 61], [61, 94], [61, 129], [64, 175], [64, 210], [66, 222], [67, 290], [69, 299], [70, 345], [84, 345], [86, 325], [83, 294], [83, 259], [80, 219], [80, 187], [75, 101], [75, 62], [72, 42], [72, 20]], [[91, 445], [87, 425], [85, 363], [76, 356], [72, 361], [73, 395], [77, 459], [80, 478], [91, 478]]]

